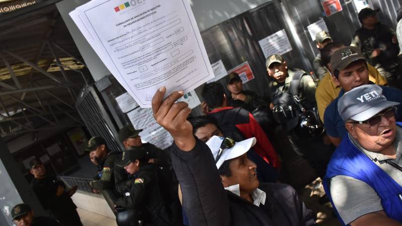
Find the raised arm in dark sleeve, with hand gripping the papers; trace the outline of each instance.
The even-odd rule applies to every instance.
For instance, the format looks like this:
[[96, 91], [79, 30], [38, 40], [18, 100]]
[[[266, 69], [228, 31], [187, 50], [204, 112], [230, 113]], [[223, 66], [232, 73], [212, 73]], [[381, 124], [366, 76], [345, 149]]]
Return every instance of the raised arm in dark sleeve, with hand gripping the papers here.
[[169, 150], [173, 169], [181, 186], [183, 208], [190, 225], [230, 225], [229, 201], [208, 146], [192, 135], [187, 121], [191, 109], [175, 101], [183, 92], [173, 92], [164, 100], [161, 87], [152, 99], [156, 122], [174, 139]]

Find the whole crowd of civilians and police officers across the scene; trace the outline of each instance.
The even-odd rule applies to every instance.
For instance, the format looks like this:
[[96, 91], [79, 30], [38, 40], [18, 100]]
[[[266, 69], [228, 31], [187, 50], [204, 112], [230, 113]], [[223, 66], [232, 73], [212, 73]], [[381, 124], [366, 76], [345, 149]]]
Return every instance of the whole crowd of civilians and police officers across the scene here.
[[[268, 96], [244, 90], [230, 73], [226, 87], [203, 86], [205, 116], [198, 117], [177, 102], [182, 91], [163, 98], [159, 88], [153, 115], [172, 146], [142, 143], [142, 130], [132, 126], [119, 132], [123, 152], [91, 138], [93, 192], [111, 197], [118, 225], [316, 225], [296, 191], [280, 183], [281, 156], [272, 145], [279, 130], [321, 177], [343, 225], [402, 225], [402, 40], [377, 12], [359, 12], [362, 27], [350, 46], [317, 34], [318, 80], [274, 54], [265, 62]], [[34, 192], [58, 222], [19, 204], [16, 224], [82, 225], [70, 198], [76, 187], [48, 176], [39, 160], [30, 168]]]

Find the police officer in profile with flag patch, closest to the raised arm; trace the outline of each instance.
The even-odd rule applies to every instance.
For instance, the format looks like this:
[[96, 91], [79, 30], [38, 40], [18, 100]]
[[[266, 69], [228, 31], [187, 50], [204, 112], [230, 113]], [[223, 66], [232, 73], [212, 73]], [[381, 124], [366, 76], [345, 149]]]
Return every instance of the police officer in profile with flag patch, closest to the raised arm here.
[[136, 209], [131, 221], [141, 220], [143, 225], [176, 225], [179, 221], [169, 208], [170, 194], [165, 189], [169, 181], [165, 181], [158, 167], [148, 161], [149, 152], [145, 147], [129, 147], [124, 151], [118, 165], [133, 177], [125, 181], [128, 193], [115, 204]]

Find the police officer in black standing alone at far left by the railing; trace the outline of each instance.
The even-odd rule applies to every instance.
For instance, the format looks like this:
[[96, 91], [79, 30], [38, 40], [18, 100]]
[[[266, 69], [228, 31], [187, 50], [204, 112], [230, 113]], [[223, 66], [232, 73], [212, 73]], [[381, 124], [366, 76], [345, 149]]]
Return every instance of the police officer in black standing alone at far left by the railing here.
[[56, 177], [48, 176], [45, 165], [37, 159], [29, 162], [30, 172], [34, 175], [31, 188], [43, 208], [50, 212], [62, 226], [82, 226], [77, 206], [71, 200], [77, 186], [66, 189], [65, 184]]

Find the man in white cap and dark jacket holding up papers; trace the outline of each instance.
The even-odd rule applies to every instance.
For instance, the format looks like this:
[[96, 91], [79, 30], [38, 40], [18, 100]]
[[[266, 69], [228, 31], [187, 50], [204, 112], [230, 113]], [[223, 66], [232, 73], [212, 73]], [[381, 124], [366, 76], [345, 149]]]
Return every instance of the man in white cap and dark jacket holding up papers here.
[[[312, 211], [306, 209], [294, 189], [283, 184], [260, 185], [255, 164], [245, 154], [237, 156], [239, 150], [247, 152], [255, 144], [255, 138], [239, 142], [235, 145], [238, 150], [236, 152], [232, 152], [235, 146], [229, 148], [233, 141], [224, 142], [224, 146], [214, 145], [213, 152], [219, 153], [214, 158], [209, 147], [192, 135], [192, 126], [186, 120], [191, 111], [188, 104], [175, 103], [183, 91], [173, 92], [163, 100], [165, 92], [165, 87], [156, 91], [152, 99], [152, 110], [156, 122], [174, 139], [170, 156], [181, 185], [183, 208], [190, 225], [315, 224]], [[219, 147], [218, 151], [216, 147]], [[230, 159], [232, 161], [225, 163], [225, 160]], [[216, 162], [226, 164], [227, 167], [218, 165], [226, 169], [218, 172]], [[233, 189], [236, 194], [225, 191], [223, 184], [238, 187]], [[262, 192], [257, 190], [258, 187]]]

